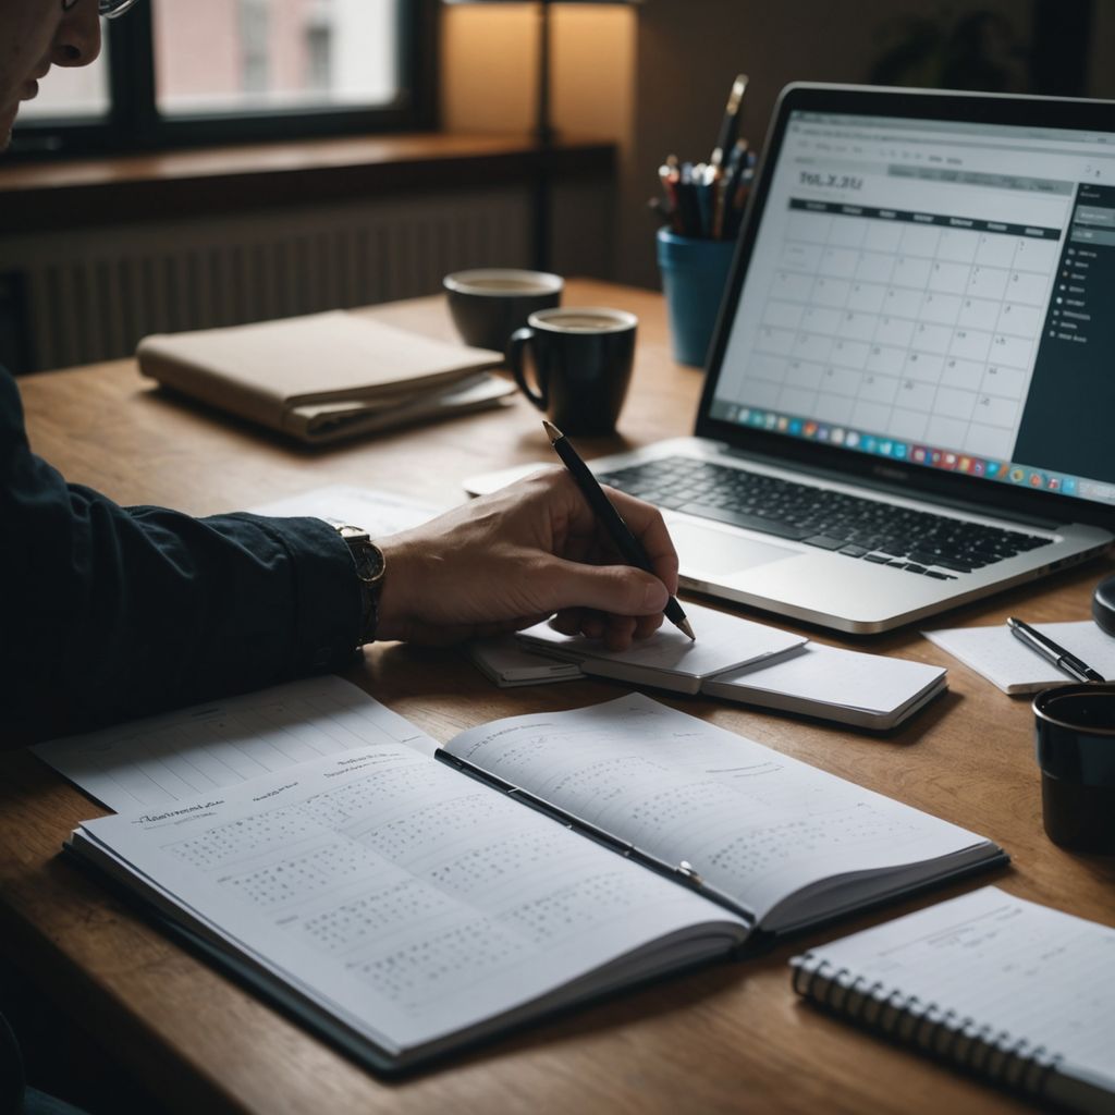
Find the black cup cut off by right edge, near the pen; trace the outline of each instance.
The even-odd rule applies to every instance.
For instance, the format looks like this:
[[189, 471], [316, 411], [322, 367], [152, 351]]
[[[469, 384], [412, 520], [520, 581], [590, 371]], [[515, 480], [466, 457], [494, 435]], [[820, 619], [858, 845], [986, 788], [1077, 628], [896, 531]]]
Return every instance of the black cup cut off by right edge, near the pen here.
[[1046, 689], [1034, 716], [1047, 835], [1074, 852], [1115, 852], [1115, 685]]

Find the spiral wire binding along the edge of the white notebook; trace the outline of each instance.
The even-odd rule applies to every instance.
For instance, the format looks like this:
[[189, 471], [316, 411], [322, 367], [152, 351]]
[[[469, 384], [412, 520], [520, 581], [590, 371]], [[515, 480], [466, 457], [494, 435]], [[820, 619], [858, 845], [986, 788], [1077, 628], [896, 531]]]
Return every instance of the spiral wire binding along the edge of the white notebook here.
[[1012, 1090], [1040, 1097], [1061, 1059], [1026, 1038], [869, 981], [812, 952], [794, 957], [791, 966], [794, 990], [825, 1010]]

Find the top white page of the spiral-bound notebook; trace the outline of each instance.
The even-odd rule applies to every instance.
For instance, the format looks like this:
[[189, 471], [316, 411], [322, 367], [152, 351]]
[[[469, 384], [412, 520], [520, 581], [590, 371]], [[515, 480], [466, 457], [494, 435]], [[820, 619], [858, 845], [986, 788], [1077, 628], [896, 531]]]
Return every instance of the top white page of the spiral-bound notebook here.
[[1115, 1082], [1115, 929], [985, 886], [809, 957]]

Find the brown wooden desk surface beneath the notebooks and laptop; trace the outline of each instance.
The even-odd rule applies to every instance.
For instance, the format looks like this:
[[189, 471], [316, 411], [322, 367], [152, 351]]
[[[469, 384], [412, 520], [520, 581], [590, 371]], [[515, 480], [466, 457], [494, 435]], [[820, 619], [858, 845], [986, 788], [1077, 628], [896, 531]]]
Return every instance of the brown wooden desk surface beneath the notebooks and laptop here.
[[[659, 297], [576, 282], [566, 301], [621, 307], [641, 320], [621, 433], [582, 443], [586, 454], [687, 433], [700, 375], [670, 360]], [[370, 312], [452, 332], [439, 299]], [[521, 400], [504, 411], [319, 453], [171, 401], [130, 361], [31, 377], [22, 390], [32, 445], [71, 481], [123, 503], [197, 514], [337, 482], [458, 502], [466, 473], [547, 455], [537, 415]], [[999, 623], [1010, 612], [1084, 618], [1093, 583], [1111, 565], [1016, 590], [944, 622]], [[1043, 833], [1028, 701], [1004, 696], [915, 632], [865, 646], [947, 665], [949, 692], [886, 738], [704, 699], [671, 704], [999, 842], [1014, 865], [982, 882], [1115, 921], [1115, 862], [1069, 855]], [[571, 708], [619, 691], [590, 681], [498, 690], [452, 651], [399, 646], [374, 649], [350, 677], [439, 739], [496, 716]], [[0, 948], [64, 1009], [110, 1036], [124, 1064], [183, 1112], [1028, 1109], [830, 1020], [789, 989], [786, 960], [794, 952], [977, 882], [531, 1027], [437, 1072], [384, 1083], [60, 863], [66, 833], [97, 812], [30, 755], [0, 756]]]

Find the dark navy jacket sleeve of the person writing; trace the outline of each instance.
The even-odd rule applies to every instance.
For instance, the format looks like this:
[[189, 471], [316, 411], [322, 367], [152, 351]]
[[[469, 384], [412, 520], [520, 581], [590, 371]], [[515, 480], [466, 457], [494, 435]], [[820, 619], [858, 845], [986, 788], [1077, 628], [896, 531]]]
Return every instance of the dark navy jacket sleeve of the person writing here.
[[327, 523], [192, 518], [67, 484], [31, 453], [0, 368], [0, 743], [336, 670], [359, 626]]

